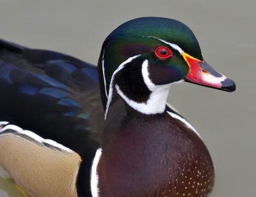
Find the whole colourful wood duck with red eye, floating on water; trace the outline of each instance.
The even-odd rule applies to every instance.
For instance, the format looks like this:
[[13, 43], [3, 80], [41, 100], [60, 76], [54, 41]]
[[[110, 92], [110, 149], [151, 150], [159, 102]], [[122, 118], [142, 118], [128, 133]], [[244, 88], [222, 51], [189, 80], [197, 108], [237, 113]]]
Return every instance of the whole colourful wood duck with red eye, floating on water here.
[[211, 156], [166, 105], [177, 82], [236, 89], [169, 18], [117, 27], [98, 67], [0, 40], [0, 164], [34, 196], [208, 196]]

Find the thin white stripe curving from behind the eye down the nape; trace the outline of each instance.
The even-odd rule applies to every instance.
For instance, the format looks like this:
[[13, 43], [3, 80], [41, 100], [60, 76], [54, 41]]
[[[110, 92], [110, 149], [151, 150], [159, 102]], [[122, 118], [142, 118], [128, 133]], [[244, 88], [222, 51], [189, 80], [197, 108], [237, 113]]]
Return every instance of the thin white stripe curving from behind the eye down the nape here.
[[124, 68], [125, 64], [131, 62], [133, 59], [136, 59], [137, 57], [139, 57], [140, 55], [135, 55], [133, 57], [129, 57], [126, 61], [122, 62], [122, 64], [120, 64], [120, 66], [118, 66], [118, 68], [114, 71], [112, 77], [111, 77], [111, 81], [110, 81], [110, 84], [109, 84], [109, 91], [108, 91], [108, 103], [106, 105], [106, 112], [105, 112], [105, 119], [107, 117], [107, 114], [108, 114], [108, 109], [109, 109], [109, 105], [112, 101], [112, 96], [113, 96], [113, 81], [114, 81], [114, 78], [115, 78], [115, 75], [116, 73], [118, 73], [118, 71], [120, 71], [121, 69]]

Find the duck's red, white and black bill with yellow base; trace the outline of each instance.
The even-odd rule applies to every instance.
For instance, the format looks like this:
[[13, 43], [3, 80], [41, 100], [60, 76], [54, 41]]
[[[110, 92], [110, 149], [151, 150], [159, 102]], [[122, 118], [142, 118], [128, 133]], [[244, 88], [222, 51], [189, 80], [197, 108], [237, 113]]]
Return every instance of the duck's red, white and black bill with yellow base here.
[[214, 71], [207, 62], [200, 61], [185, 52], [182, 53], [182, 56], [189, 66], [188, 75], [184, 78], [186, 82], [227, 92], [236, 90], [236, 84], [231, 79]]

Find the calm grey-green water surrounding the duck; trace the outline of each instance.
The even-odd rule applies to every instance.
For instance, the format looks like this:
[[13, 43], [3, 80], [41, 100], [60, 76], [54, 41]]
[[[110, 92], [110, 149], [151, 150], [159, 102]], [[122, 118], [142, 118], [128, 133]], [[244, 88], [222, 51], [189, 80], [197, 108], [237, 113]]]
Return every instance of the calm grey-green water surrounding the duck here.
[[[0, 0], [0, 37], [95, 63], [104, 38], [131, 18], [175, 18], [193, 29], [205, 59], [237, 91], [173, 85], [170, 102], [204, 138], [216, 167], [211, 196], [255, 196], [255, 1]], [[3, 93], [3, 92], [2, 92]], [[20, 196], [0, 179], [0, 196]]]

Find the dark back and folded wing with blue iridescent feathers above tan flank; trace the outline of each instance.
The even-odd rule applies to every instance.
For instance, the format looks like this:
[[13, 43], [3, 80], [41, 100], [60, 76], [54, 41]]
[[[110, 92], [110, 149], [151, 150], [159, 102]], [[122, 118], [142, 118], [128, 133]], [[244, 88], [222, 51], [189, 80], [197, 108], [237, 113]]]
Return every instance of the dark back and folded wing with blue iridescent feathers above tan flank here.
[[79, 154], [86, 143], [99, 146], [103, 110], [92, 64], [0, 40], [0, 91], [1, 120]]

